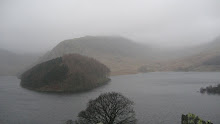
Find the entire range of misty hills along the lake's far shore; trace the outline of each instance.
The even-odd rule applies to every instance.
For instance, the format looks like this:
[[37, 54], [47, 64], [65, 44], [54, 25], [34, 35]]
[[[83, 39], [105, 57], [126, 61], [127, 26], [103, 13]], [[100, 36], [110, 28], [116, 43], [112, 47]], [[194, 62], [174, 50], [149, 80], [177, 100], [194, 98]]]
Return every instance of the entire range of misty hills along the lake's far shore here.
[[133, 74], [139, 71], [220, 70], [220, 37], [199, 46], [168, 49], [137, 43], [121, 36], [85, 36], [64, 40], [43, 56], [20, 55], [1, 49], [0, 75], [16, 75], [36, 64], [69, 53], [97, 59], [111, 69], [112, 75]]

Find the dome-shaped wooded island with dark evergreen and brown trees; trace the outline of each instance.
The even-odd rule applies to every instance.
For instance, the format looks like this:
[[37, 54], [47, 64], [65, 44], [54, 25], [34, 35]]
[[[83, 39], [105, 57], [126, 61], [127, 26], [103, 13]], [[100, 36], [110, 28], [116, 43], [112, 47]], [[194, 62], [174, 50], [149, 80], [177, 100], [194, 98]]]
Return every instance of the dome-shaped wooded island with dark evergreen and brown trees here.
[[79, 54], [38, 64], [21, 75], [21, 86], [44, 92], [79, 92], [106, 84], [110, 69]]

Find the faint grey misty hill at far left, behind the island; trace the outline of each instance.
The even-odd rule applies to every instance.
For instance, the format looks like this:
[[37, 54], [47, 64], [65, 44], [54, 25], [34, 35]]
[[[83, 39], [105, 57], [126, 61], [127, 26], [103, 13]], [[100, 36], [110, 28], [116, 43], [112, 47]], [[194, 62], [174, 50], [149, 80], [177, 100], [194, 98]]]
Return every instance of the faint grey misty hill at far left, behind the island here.
[[15, 76], [37, 61], [38, 57], [39, 55], [21, 55], [0, 48], [0, 76]]

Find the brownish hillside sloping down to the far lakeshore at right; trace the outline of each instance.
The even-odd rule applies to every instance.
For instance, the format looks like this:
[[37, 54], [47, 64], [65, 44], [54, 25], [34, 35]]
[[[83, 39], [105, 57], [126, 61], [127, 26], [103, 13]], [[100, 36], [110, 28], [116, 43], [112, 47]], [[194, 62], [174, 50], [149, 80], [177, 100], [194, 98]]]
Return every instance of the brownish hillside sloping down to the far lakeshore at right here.
[[220, 71], [220, 37], [200, 46], [173, 52], [158, 52], [158, 55], [163, 58], [167, 56], [167, 60], [144, 64], [138, 71]]

